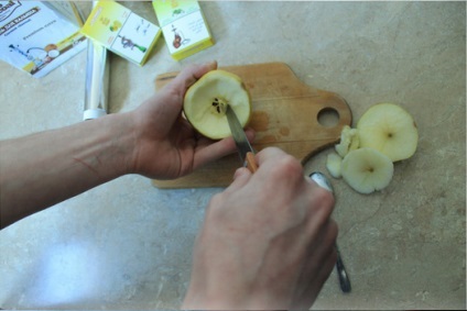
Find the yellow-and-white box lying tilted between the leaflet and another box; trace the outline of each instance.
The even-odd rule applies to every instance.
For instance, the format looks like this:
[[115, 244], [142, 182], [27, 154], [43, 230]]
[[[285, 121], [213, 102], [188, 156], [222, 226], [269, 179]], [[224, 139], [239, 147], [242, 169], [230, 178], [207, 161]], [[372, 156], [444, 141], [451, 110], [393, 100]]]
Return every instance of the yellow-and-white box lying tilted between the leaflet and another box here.
[[161, 36], [161, 29], [115, 1], [99, 1], [82, 33], [142, 66]]

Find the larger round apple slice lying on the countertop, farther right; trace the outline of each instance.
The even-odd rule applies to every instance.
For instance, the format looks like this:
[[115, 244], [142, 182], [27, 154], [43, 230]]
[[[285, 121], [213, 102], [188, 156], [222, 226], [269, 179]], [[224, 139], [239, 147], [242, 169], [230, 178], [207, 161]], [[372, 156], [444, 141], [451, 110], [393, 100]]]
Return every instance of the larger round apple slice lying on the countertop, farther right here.
[[360, 147], [374, 148], [392, 162], [411, 157], [416, 149], [419, 131], [412, 115], [393, 103], [378, 103], [357, 123]]

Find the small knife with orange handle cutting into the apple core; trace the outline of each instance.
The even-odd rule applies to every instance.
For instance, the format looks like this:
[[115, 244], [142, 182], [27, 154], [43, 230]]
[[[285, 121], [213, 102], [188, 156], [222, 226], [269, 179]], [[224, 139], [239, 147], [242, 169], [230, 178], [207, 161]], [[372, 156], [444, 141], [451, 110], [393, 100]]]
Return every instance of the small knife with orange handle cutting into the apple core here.
[[243, 167], [247, 167], [251, 173], [257, 171], [258, 165], [254, 160], [254, 149], [248, 142], [247, 134], [245, 134], [237, 114], [235, 114], [234, 109], [229, 104], [227, 104], [226, 115]]

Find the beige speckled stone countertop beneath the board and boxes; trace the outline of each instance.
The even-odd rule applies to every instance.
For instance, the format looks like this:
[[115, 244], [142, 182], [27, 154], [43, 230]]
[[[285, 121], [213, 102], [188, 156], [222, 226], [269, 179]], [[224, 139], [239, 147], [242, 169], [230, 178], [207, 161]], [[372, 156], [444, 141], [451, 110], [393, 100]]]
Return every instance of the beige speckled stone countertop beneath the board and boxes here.
[[[82, 3], [86, 9], [88, 3]], [[150, 2], [124, 2], [156, 22]], [[110, 113], [154, 92], [159, 74], [283, 62], [305, 84], [344, 97], [354, 122], [377, 102], [415, 119], [415, 155], [370, 196], [333, 179], [335, 271], [313, 309], [466, 308], [466, 3], [202, 2], [215, 45], [181, 62], [160, 40], [138, 67], [111, 56]], [[82, 122], [86, 53], [44, 78], [0, 64], [0, 138]], [[332, 149], [306, 169], [325, 170]], [[0, 155], [1, 156], [1, 155]], [[0, 308], [176, 309], [194, 238], [220, 188], [160, 190], [124, 176], [0, 232]], [[1, 191], [1, 189], [0, 189]]]

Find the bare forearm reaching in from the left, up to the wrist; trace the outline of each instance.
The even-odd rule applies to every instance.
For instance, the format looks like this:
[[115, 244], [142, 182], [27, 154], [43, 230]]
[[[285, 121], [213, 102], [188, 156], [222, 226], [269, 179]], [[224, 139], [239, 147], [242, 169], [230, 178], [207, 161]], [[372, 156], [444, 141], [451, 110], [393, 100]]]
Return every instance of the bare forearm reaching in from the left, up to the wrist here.
[[0, 142], [0, 227], [129, 173], [131, 113]]

